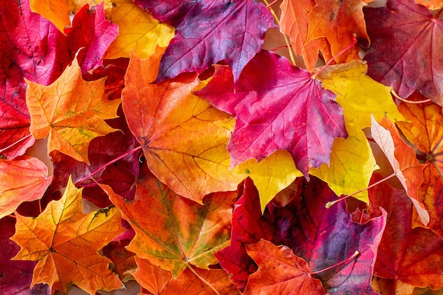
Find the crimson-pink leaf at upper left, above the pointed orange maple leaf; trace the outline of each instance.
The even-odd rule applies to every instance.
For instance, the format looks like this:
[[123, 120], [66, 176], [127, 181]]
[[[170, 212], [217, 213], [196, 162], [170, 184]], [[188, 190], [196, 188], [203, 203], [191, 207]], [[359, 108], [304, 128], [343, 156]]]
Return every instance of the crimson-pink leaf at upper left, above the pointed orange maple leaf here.
[[104, 2], [89, 9], [86, 4], [74, 16], [72, 27], [64, 30], [69, 50], [75, 53], [82, 48], [77, 59], [83, 74], [102, 63], [103, 55], [118, 34], [118, 26], [105, 19], [103, 5]]

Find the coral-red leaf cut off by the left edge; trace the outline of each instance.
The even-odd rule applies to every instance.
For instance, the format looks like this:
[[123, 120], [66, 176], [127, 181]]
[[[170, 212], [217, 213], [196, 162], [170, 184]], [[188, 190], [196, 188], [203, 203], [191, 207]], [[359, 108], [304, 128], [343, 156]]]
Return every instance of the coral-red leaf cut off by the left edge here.
[[45, 163], [38, 158], [20, 156], [0, 161], [0, 219], [22, 202], [40, 199], [51, 180]]

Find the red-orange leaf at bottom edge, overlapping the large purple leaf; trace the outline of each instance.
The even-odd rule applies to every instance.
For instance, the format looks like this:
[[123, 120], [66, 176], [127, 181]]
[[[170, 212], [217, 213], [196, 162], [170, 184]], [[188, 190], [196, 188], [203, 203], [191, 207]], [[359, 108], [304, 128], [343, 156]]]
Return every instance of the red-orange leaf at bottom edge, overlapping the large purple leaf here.
[[311, 277], [306, 261], [286, 246], [260, 240], [246, 245], [246, 250], [257, 263], [258, 271], [249, 277], [243, 294], [325, 294], [321, 281]]

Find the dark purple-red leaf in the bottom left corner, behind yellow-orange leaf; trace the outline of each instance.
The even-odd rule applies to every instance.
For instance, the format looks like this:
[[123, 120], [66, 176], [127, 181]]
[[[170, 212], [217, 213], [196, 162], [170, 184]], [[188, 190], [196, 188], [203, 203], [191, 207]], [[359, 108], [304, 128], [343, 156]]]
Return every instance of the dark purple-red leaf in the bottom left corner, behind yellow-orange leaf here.
[[15, 232], [15, 219], [0, 219], [0, 292], [14, 295], [50, 295], [47, 284], [37, 284], [30, 289], [36, 262], [11, 260], [20, 247], [9, 238]]

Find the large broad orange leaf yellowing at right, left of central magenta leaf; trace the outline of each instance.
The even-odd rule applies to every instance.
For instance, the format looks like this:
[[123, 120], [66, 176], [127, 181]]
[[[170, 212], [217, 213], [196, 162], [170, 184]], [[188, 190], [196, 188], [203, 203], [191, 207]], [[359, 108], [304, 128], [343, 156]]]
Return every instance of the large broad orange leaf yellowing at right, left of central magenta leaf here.
[[195, 75], [151, 83], [158, 60], [132, 55], [122, 105], [149, 169], [162, 183], [197, 202], [209, 192], [236, 190], [244, 176], [229, 171], [230, 115], [192, 94], [205, 83]]

